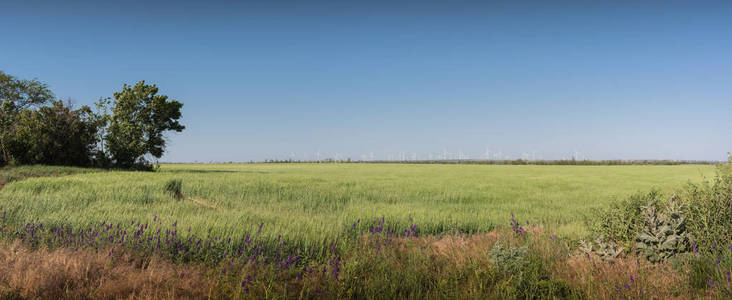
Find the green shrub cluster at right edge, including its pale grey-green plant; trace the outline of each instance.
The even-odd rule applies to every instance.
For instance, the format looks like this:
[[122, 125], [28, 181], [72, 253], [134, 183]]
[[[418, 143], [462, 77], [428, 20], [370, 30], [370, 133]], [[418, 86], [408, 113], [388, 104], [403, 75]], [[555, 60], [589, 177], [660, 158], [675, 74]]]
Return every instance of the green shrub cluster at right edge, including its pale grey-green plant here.
[[634, 195], [601, 210], [589, 225], [594, 234], [619, 243], [638, 241], [635, 249], [652, 261], [690, 250], [689, 246], [695, 252], [712, 253], [718, 244], [732, 240], [730, 164], [719, 165], [714, 178], [689, 183], [670, 199], [662, 200], [656, 191]]

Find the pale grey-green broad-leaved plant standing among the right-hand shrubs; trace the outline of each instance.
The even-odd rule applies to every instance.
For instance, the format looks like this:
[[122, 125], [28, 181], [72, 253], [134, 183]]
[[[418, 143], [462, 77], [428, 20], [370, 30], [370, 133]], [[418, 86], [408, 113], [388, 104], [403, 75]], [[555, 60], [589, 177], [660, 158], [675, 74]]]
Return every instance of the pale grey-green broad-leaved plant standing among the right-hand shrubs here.
[[658, 212], [652, 205], [643, 207], [645, 226], [636, 237], [635, 247], [652, 263], [688, 250], [689, 237], [684, 226], [686, 218], [676, 201], [676, 197], [672, 196], [665, 213]]

